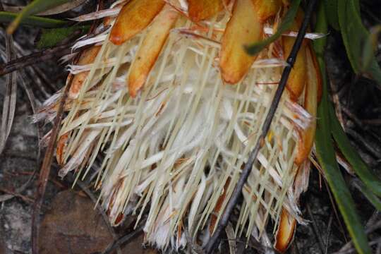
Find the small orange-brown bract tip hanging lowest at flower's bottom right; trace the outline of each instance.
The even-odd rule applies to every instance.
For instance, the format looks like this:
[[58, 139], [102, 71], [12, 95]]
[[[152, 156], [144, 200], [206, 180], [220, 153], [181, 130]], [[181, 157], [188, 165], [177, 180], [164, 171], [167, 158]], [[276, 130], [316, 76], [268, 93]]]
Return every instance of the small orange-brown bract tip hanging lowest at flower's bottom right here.
[[295, 228], [296, 219], [283, 208], [274, 244], [274, 248], [280, 253], [284, 253], [289, 248], [294, 238]]

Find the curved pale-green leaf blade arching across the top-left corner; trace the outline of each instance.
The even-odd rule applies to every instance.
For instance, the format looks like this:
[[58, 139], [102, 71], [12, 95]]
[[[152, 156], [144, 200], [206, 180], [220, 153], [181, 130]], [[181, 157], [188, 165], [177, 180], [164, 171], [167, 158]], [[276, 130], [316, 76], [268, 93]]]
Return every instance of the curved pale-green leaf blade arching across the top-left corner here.
[[12, 23], [6, 29], [6, 32], [11, 35], [18, 28], [21, 21], [25, 20], [29, 16], [33, 14], [40, 13], [42, 11], [47, 11], [49, 8], [54, 8], [61, 4], [65, 4], [66, 2], [71, 0], [34, 0], [32, 3], [25, 6], [20, 13], [18, 13], [17, 17], [12, 21]]

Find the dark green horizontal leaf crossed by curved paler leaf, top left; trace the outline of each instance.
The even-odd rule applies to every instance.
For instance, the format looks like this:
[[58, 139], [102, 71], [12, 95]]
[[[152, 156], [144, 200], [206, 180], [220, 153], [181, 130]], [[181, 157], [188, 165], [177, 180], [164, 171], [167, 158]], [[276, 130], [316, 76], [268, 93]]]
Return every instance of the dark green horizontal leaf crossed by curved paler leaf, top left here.
[[[17, 17], [17, 13], [8, 11], [0, 11], [0, 23], [11, 23]], [[29, 16], [21, 21], [21, 25], [37, 26], [39, 28], [59, 28], [68, 23], [63, 20], [56, 20], [53, 18], [42, 18], [36, 16]]]

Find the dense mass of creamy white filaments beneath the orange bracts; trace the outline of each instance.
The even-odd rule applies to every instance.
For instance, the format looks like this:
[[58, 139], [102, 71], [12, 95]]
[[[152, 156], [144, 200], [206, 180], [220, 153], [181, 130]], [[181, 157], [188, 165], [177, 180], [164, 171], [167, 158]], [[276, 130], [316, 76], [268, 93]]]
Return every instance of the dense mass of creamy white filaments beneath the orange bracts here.
[[[258, 141], [282, 73], [284, 61], [274, 59], [270, 47], [240, 83], [224, 84], [218, 52], [227, 20], [208, 20], [205, 31], [179, 19], [135, 98], [128, 95], [126, 77], [145, 32], [121, 46], [104, 32], [92, 39], [102, 44], [94, 63], [69, 66], [72, 73], [90, 73], [78, 99], [66, 103], [60, 135], [69, 138], [59, 175], [75, 170], [85, 178], [102, 153], [95, 186], [111, 223], [125, 214], [138, 220], [147, 214], [145, 239], [159, 248], [184, 246], [184, 231], [193, 238], [213, 231]], [[52, 119], [58, 98], [44, 104], [36, 119]], [[282, 208], [301, 220], [292, 188], [296, 128], [310, 121], [284, 96], [243, 189], [237, 236], [256, 231], [260, 237], [269, 219], [275, 230]]]

